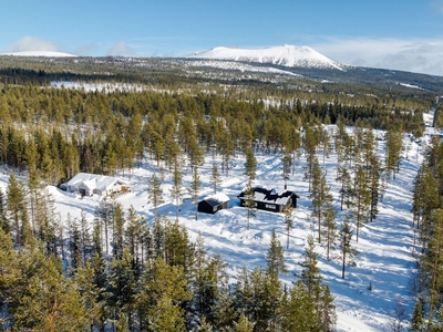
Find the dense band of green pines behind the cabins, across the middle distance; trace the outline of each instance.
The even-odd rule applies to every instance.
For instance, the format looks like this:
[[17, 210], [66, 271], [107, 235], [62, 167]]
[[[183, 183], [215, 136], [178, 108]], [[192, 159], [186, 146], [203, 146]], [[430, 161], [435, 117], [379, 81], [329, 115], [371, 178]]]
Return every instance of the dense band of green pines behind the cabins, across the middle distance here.
[[349, 103], [346, 96], [331, 102], [308, 96], [241, 101], [203, 93], [3, 86], [0, 162], [19, 172], [35, 170], [58, 185], [79, 170], [131, 172], [146, 155], [171, 166], [178, 155], [195, 160], [215, 148], [228, 167], [230, 157], [247, 146], [293, 152], [305, 126], [339, 120], [418, 136], [423, 129], [424, 105], [413, 102], [399, 106], [398, 100], [373, 98], [373, 104], [358, 106], [341, 102]]

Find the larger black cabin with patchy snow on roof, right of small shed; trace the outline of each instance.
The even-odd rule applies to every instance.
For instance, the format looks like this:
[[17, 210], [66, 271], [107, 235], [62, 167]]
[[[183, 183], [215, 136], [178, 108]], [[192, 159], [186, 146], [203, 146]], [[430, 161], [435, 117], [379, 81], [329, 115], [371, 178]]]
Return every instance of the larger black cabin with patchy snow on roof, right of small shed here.
[[[287, 208], [297, 207], [297, 198], [300, 198], [296, 193], [285, 190], [284, 193], [277, 193], [275, 189], [266, 189], [262, 187], [254, 187], [254, 201], [255, 207], [260, 210], [284, 212]], [[238, 195], [240, 199], [240, 206], [246, 206], [246, 193], [241, 191]]]

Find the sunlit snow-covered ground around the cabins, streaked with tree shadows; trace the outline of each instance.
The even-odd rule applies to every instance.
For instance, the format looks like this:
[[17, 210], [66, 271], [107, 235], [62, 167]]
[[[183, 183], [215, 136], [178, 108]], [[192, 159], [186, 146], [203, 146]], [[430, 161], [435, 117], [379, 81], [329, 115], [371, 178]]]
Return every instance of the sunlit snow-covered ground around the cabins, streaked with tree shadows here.
[[[379, 151], [384, 151], [384, 142], [379, 141]], [[328, 261], [324, 248], [318, 246], [319, 268], [323, 281], [328, 282], [334, 304], [337, 307], [338, 322], [337, 331], [390, 331], [391, 313], [395, 302], [402, 303], [412, 309], [413, 301], [409, 294], [409, 281], [415, 267], [413, 250], [413, 234], [411, 228], [412, 214], [412, 188], [413, 179], [422, 162], [422, 148], [418, 143], [404, 137], [403, 160], [400, 174], [389, 187], [380, 203], [378, 218], [368, 224], [360, 231], [360, 239], [353, 246], [360, 251], [357, 256], [357, 266], [348, 267], [346, 279], [341, 279], [341, 260], [336, 250], [333, 259]], [[256, 153], [258, 162], [256, 185], [282, 190], [282, 162], [281, 155]], [[212, 157], [199, 168], [199, 176], [203, 187], [199, 197], [204, 198], [213, 194], [209, 177], [212, 174]], [[220, 159], [215, 158], [220, 165]], [[319, 156], [320, 163], [322, 158]], [[244, 189], [246, 177], [244, 175], [245, 158], [236, 156], [229, 169], [229, 176], [223, 176], [220, 191], [230, 198], [228, 209], [220, 210], [215, 215], [198, 214], [195, 220], [195, 207], [190, 199], [185, 199], [181, 206], [179, 220], [184, 224], [189, 235], [195, 239], [200, 232], [205, 239], [205, 246], [209, 255], [220, 253], [229, 264], [229, 273], [235, 278], [236, 272], [243, 266], [253, 269], [254, 266], [266, 264], [265, 256], [268, 249], [272, 229], [276, 230], [285, 248], [285, 258], [289, 270], [285, 281], [290, 283], [295, 280], [292, 272], [301, 271], [299, 263], [303, 260], [303, 252], [309, 234], [316, 232], [315, 222], [310, 218], [310, 200], [308, 198], [308, 184], [302, 180], [306, 163], [305, 156], [296, 165], [296, 172], [288, 181], [288, 189], [295, 190], [300, 199], [295, 210], [295, 228], [290, 234], [289, 249], [286, 249], [286, 232], [284, 215], [258, 210], [256, 218], [250, 220], [250, 228], [247, 229], [247, 210], [239, 207], [237, 195]], [[131, 178], [125, 173], [124, 178], [130, 180], [132, 193], [120, 196], [117, 200], [125, 207], [134, 206], [140, 215], [146, 218], [147, 222], [154, 219], [153, 206], [147, 203], [147, 184], [153, 173], [159, 169], [156, 163], [145, 159], [140, 167], [133, 169]], [[340, 208], [339, 184], [336, 183], [337, 155], [331, 154], [321, 164], [327, 172], [328, 184], [334, 196], [334, 205]], [[220, 167], [219, 167], [220, 169]], [[184, 187], [190, 181], [190, 168], [183, 169]], [[1, 173], [1, 186], [8, 183], [7, 173]], [[162, 175], [159, 175], [162, 178]], [[171, 197], [172, 174], [164, 170], [163, 176], [164, 204], [158, 212], [175, 219], [175, 205]], [[56, 210], [62, 218], [68, 214], [71, 217], [80, 218], [84, 210], [90, 220], [93, 219], [95, 207], [100, 204], [100, 197], [81, 198], [74, 194], [61, 191], [55, 187], [49, 187], [52, 194]], [[338, 216], [341, 222], [343, 212]], [[372, 286], [372, 290], [369, 290]]]

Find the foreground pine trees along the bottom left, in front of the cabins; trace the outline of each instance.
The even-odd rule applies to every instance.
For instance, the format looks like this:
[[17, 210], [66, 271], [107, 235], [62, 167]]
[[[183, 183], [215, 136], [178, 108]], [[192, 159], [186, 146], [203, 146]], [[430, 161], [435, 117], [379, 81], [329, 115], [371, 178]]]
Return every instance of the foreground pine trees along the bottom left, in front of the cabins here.
[[[30, 195], [38, 195], [31, 200]], [[33, 201], [33, 204], [31, 204]], [[333, 299], [313, 242], [287, 284], [274, 231], [266, 266], [227, 264], [200, 236], [166, 217], [148, 225], [133, 207], [102, 200], [62, 220], [49, 193], [13, 174], [0, 191], [0, 326], [7, 331], [331, 331]]]

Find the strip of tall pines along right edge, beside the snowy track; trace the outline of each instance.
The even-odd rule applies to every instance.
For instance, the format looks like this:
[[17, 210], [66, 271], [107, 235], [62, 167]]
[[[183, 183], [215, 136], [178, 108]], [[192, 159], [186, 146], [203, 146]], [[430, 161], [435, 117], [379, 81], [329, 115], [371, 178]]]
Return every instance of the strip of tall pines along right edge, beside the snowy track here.
[[441, 331], [443, 326], [443, 143], [432, 139], [414, 183], [413, 229], [418, 272], [411, 331]]

